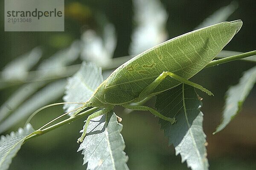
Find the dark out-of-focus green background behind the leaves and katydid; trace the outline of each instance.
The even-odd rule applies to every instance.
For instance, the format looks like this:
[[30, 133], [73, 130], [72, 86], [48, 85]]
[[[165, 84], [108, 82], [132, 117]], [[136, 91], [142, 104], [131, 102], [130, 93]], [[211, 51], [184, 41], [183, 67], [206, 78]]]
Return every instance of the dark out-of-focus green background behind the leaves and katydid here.
[[[216, 10], [230, 4], [230, 0], [161, 0], [168, 12], [166, 29], [169, 38], [189, 32]], [[241, 19], [242, 29], [225, 50], [247, 52], [255, 50], [256, 2], [238, 0], [238, 9], [228, 20]], [[64, 32], [4, 32], [4, 1], [0, 1], [0, 68], [36, 46], [43, 49], [43, 60], [60, 49], [67, 48], [87, 29], [102, 32], [102, 20], [108, 20], [116, 30], [117, 45], [113, 57], [129, 55], [131, 34], [134, 23], [134, 8], [131, 0], [65, 0]], [[154, 25], [154, 23], [152, 23]], [[76, 61], [79, 63], [81, 61]], [[235, 61], [203, 70], [192, 81], [210, 89], [215, 96], [201, 94], [203, 100], [204, 132], [207, 135], [207, 153], [211, 170], [254, 170], [256, 169], [256, 89], [254, 88], [241, 113], [220, 133], [212, 135], [221, 120], [224, 94], [228, 86], [237, 84], [242, 72], [255, 63]], [[0, 90], [0, 104], [14, 92], [18, 86]], [[58, 101], [62, 101], [59, 98]], [[151, 104], [149, 102], [149, 104]], [[38, 114], [32, 125], [38, 128], [63, 112], [62, 107], [53, 107]], [[163, 130], [148, 112], [123, 113], [116, 108], [116, 114], [122, 117], [122, 135], [125, 140], [125, 152], [129, 156], [131, 170], [186, 170], [186, 163], [181, 164], [180, 156], [175, 156], [173, 146]], [[23, 127], [23, 119], [10, 133]], [[41, 137], [28, 141], [13, 159], [10, 170], [70, 170], [85, 169], [82, 166], [81, 152], [76, 150], [79, 144], [79, 130], [84, 125], [83, 119], [64, 125]]]

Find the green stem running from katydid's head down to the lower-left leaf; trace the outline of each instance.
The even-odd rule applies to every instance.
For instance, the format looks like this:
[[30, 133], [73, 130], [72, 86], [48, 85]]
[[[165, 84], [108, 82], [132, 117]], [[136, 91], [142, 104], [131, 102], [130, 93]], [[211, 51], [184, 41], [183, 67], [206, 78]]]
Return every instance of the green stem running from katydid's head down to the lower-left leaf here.
[[73, 122], [73, 121], [75, 121], [75, 120], [77, 120], [79, 118], [82, 118], [82, 117], [86, 116], [86, 115], [90, 115], [91, 113], [95, 112], [98, 109], [99, 109], [99, 107], [93, 107], [93, 108], [88, 109], [88, 110], [86, 110], [84, 112], [81, 112], [80, 114], [78, 114], [78, 115], [76, 115], [74, 117], [67, 118], [64, 121], [61, 121], [61, 122], [59, 122], [57, 124], [54, 124], [54, 125], [52, 125], [50, 127], [47, 127], [45, 129], [43, 129], [43, 130], [36, 130], [35, 132], [33, 132], [30, 135], [28, 135], [28, 137], [25, 139], [24, 142], [26, 142], [26, 141], [28, 141], [28, 140], [30, 140], [32, 138], [35, 138], [35, 137], [37, 137], [39, 135], [43, 135], [44, 133], [47, 133], [49, 131], [52, 131], [52, 130], [56, 129], [57, 127], [61, 127], [64, 124]]

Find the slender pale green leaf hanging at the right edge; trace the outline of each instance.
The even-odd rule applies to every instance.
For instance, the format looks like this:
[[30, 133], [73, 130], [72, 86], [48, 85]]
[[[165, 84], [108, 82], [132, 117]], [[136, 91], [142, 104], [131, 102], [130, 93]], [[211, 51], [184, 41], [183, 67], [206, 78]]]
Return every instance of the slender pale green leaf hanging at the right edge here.
[[223, 130], [227, 124], [239, 113], [244, 100], [247, 98], [254, 84], [256, 83], [256, 66], [244, 72], [239, 84], [231, 86], [226, 93], [226, 101], [222, 114], [221, 124], [215, 133]]

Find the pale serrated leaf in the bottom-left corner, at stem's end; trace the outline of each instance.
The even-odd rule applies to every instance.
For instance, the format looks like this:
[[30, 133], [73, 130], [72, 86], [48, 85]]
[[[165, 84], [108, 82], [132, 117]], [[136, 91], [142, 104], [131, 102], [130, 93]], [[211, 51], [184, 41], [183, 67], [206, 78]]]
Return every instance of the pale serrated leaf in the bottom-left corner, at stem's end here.
[[26, 124], [25, 127], [19, 128], [17, 132], [12, 132], [10, 135], [1, 136], [0, 138], [0, 170], [7, 170], [20, 150], [21, 145], [27, 135], [34, 132], [31, 124]]

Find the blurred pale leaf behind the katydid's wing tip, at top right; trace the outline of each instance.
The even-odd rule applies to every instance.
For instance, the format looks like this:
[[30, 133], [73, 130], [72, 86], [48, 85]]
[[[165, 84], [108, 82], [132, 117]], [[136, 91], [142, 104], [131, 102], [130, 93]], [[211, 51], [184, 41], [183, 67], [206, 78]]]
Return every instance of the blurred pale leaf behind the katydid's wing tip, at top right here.
[[195, 29], [200, 29], [206, 26], [213, 25], [215, 23], [226, 21], [227, 18], [230, 17], [230, 15], [236, 11], [237, 8], [238, 8], [238, 3], [236, 1], [232, 1], [229, 5], [223, 6], [220, 9], [216, 10], [213, 14], [207, 17]]

